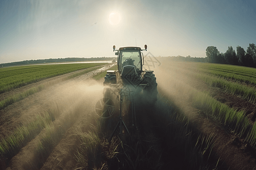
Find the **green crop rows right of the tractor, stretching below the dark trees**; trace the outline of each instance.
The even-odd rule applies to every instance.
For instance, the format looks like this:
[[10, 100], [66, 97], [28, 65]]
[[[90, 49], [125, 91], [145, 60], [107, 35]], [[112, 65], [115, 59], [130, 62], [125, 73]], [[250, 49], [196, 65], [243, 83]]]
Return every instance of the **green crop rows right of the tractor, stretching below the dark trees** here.
[[[166, 66], [165, 66], [166, 65]], [[168, 66], [167, 66], [168, 65]], [[256, 124], [251, 124], [245, 117], [246, 108], [233, 108], [214, 99], [209, 89], [194, 88], [192, 82], [203, 81], [208, 87], [221, 88], [228, 94], [255, 104], [256, 88], [254, 86], [256, 69], [216, 63], [168, 62], [164, 71], [173, 78], [168, 88], [173, 88], [179, 95], [187, 97], [197, 109], [213, 117], [230, 131], [233, 131], [256, 148]], [[167, 69], [168, 67], [168, 69]], [[167, 76], [167, 75], [166, 75]], [[156, 76], [157, 77], [157, 76]], [[190, 81], [188, 81], [188, 79]], [[192, 80], [192, 82], [191, 82]]]

